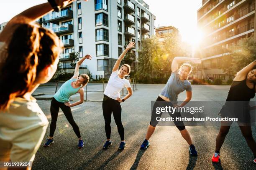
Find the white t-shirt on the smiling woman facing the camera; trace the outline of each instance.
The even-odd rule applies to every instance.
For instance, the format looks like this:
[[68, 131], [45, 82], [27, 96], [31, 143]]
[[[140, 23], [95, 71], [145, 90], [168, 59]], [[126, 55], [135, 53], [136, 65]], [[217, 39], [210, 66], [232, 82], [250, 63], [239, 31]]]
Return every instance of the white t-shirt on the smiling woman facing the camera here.
[[129, 80], [120, 78], [118, 76], [118, 70], [116, 70], [110, 75], [108, 85], [104, 91], [104, 95], [107, 95], [108, 97], [116, 100], [118, 97], [120, 98], [120, 90], [122, 90], [123, 87], [131, 87], [131, 84]]

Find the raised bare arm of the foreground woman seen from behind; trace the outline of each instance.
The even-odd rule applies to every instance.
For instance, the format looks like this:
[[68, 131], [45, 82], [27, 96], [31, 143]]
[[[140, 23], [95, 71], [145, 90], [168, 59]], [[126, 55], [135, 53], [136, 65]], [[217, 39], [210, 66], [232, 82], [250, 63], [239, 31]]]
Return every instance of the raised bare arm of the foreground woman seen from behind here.
[[[74, 0], [55, 0], [56, 4], [59, 5], [59, 7], [65, 7], [73, 1]], [[5, 26], [0, 34], [0, 41], [6, 42], [9, 39], [13, 31], [15, 30], [15, 27], [13, 27], [15, 23], [31, 23], [36, 19], [46, 15], [50, 11], [53, 11], [53, 9], [50, 3], [46, 2], [40, 5], [30, 7], [27, 10], [21, 12], [20, 14], [13, 17]]]

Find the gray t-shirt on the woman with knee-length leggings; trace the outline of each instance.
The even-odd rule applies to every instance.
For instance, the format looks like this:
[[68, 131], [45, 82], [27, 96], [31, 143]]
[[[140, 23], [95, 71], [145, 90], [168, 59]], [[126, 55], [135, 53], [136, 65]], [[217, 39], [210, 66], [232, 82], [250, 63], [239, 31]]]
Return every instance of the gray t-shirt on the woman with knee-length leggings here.
[[180, 80], [178, 70], [176, 70], [172, 72], [160, 95], [168, 97], [173, 104], [177, 104], [178, 95], [184, 90], [192, 91], [191, 83], [187, 80]]

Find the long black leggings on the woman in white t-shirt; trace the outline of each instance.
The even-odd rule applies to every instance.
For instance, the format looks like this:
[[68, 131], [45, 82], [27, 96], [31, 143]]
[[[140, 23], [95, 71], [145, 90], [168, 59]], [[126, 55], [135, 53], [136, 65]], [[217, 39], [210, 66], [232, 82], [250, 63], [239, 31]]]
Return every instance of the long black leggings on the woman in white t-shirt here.
[[103, 116], [105, 120], [105, 132], [106, 132], [107, 139], [110, 139], [110, 134], [111, 134], [110, 122], [111, 122], [111, 113], [113, 112], [115, 124], [118, 127], [118, 133], [120, 135], [121, 140], [124, 140], [124, 129], [121, 121], [122, 107], [120, 105], [120, 102], [104, 95], [103, 102], [102, 102], [102, 109], [103, 109]]

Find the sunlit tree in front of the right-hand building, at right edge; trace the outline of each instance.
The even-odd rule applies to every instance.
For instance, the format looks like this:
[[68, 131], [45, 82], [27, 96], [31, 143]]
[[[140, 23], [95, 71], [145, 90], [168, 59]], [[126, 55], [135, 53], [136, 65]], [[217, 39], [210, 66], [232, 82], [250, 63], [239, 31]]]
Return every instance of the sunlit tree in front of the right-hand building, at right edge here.
[[229, 55], [223, 59], [222, 70], [231, 79], [254, 60], [256, 60], [256, 40], [254, 37], [246, 37], [241, 39], [239, 44], [230, 47]]

